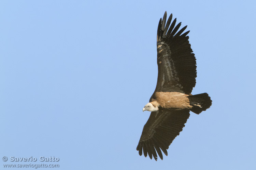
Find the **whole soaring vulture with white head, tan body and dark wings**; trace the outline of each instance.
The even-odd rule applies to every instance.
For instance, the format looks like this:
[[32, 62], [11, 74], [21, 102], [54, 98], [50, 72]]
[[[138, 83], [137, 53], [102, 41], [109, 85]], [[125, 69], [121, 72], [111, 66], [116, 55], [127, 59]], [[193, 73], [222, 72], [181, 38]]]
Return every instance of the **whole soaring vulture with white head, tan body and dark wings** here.
[[[196, 85], [196, 58], [187, 34], [187, 26], [179, 30], [181, 22], [175, 26], [176, 18], [167, 13], [161, 18], [157, 28], [157, 65], [156, 89], [149, 103], [143, 108], [150, 111], [144, 125], [137, 150], [157, 160], [167, 156], [167, 149], [173, 139], [180, 134], [189, 117], [189, 111], [200, 114], [212, 105], [207, 93], [191, 95]], [[183, 34], [182, 34], [183, 33]]]

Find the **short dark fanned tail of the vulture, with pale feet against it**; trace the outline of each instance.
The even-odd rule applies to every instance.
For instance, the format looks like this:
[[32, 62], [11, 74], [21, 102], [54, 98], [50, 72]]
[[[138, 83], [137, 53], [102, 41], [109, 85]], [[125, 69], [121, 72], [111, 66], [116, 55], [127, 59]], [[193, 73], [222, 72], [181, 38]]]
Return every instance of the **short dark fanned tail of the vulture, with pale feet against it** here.
[[188, 99], [190, 101], [190, 105], [193, 106], [190, 111], [196, 114], [206, 111], [206, 109], [212, 105], [212, 100], [207, 93], [188, 96]]

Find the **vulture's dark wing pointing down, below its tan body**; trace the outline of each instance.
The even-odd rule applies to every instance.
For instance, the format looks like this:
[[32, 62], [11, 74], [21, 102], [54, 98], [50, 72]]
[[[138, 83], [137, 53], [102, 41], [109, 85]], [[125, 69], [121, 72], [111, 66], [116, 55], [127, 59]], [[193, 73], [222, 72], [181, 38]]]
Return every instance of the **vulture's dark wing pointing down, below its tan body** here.
[[[151, 112], [146, 124], [144, 125], [137, 151], [139, 155], [150, 157], [152, 155], [157, 160], [157, 154], [163, 159], [163, 153], [167, 156], [167, 149], [173, 139], [180, 134], [184, 124], [189, 118], [189, 110], [170, 111], [168, 109], [160, 110], [159, 113]], [[161, 149], [161, 150], [160, 150]]]

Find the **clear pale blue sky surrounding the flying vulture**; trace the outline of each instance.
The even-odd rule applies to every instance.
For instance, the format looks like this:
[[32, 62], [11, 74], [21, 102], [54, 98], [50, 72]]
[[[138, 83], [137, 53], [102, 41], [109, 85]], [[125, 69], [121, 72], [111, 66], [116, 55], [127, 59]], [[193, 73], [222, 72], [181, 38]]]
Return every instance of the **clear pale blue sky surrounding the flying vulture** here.
[[[61, 170], [255, 169], [255, 9], [253, 0], [0, 1], [1, 164], [54, 156]], [[190, 30], [192, 94], [213, 104], [191, 113], [156, 162], [136, 147], [165, 11]]]

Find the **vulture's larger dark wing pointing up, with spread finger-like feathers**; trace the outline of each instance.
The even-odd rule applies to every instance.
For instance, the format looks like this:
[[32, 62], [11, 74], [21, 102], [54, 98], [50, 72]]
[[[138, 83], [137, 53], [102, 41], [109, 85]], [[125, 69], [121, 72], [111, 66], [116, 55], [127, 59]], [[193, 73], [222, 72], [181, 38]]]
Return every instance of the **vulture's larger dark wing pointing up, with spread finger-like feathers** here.
[[165, 12], [157, 29], [158, 78], [155, 92], [191, 94], [196, 85], [197, 72], [195, 54], [192, 53], [187, 36], [189, 31], [182, 34], [187, 28], [185, 26], [177, 32], [181, 22], [174, 28], [176, 18], [171, 23], [171, 14], [166, 23], [166, 16]]

